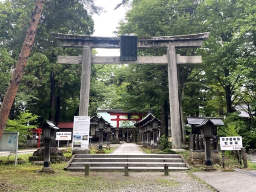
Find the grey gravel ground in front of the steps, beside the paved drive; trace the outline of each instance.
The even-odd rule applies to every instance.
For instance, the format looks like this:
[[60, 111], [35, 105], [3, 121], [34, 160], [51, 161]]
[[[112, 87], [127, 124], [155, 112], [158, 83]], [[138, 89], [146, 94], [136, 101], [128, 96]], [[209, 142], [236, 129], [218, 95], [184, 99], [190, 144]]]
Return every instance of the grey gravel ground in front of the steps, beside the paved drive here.
[[[105, 186], [102, 192], [213, 192], [207, 183], [200, 181], [188, 172], [90, 172], [90, 176], [102, 177], [115, 186]], [[87, 176], [88, 177], [88, 176]]]

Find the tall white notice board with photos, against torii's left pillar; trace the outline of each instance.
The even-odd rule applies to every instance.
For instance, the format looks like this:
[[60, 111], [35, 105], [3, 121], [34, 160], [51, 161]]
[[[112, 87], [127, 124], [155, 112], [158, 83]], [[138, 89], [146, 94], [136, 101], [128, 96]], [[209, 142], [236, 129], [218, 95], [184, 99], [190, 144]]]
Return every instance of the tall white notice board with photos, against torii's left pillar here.
[[74, 116], [72, 148], [89, 148], [90, 116]]

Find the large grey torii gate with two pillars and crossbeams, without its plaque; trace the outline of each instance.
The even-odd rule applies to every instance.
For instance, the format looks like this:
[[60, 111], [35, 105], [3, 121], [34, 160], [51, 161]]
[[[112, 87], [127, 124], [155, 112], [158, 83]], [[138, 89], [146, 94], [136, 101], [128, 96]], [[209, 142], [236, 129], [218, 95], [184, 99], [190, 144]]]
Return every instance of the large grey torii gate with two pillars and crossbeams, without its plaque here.
[[[82, 64], [79, 116], [88, 116], [91, 64], [168, 64], [169, 103], [172, 132], [172, 148], [181, 148], [181, 125], [178, 96], [177, 64], [201, 64], [201, 56], [176, 55], [176, 47], [201, 47], [209, 38], [209, 32], [166, 37], [139, 37], [137, 48], [167, 47], [167, 55], [137, 57], [134, 61], [123, 61], [120, 57], [97, 57], [92, 48], [120, 48], [120, 37], [93, 37], [51, 33], [61, 47], [82, 47], [79, 56], [58, 56], [61, 64]], [[122, 52], [122, 50], [121, 50]], [[136, 53], [137, 54], [137, 53]]]

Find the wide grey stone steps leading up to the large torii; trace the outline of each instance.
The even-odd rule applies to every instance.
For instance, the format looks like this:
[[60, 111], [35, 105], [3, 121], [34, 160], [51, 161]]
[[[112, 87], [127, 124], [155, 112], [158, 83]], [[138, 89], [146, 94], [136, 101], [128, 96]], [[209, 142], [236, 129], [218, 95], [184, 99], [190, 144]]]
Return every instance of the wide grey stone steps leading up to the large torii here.
[[134, 172], [163, 172], [164, 166], [168, 166], [169, 171], [190, 168], [180, 154], [75, 154], [64, 170], [85, 171], [86, 164], [90, 171], [123, 171], [126, 165]]

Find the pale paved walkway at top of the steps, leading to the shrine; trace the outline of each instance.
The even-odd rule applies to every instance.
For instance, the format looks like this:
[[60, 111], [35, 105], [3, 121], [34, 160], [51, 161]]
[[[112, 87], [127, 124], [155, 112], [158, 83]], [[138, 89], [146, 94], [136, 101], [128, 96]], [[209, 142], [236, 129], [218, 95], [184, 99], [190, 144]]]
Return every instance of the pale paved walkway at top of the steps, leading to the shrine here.
[[135, 143], [123, 143], [116, 148], [111, 154], [145, 154]]

